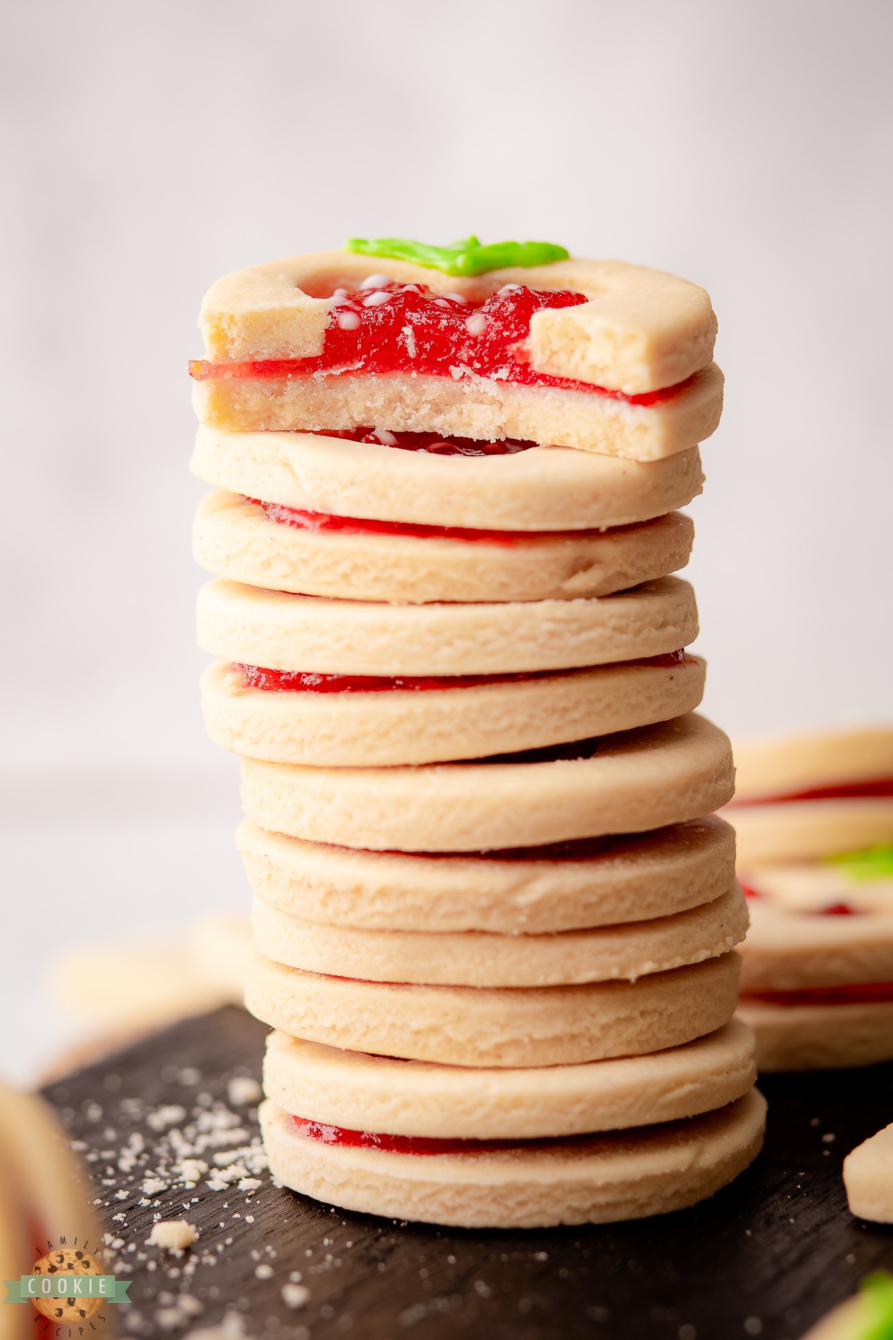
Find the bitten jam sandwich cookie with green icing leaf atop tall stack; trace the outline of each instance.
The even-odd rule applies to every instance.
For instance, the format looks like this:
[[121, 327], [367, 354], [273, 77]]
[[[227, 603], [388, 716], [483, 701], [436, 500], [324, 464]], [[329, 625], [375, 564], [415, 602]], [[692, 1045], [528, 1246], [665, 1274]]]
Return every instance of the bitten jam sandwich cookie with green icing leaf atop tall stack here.
[[716, 429], [716, 319], [696, 285], [562, 248], [545, 264], [506, 249], [514, 265], [469, 273], [391, 243], [372, 248], [372, 273], [363, 255], [320, 252], [218, 280], [202, 303], [206, 358], [191, 364], [202, 423], [371, 423], [639, 461]]

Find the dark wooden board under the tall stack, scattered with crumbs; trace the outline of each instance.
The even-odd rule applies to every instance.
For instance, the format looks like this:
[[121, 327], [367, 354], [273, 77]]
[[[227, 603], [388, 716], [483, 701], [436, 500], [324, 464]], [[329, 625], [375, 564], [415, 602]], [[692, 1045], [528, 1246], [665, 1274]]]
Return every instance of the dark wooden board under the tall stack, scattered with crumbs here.
[[[141, 1114], [225, 1100], [233, 1075], [260, 1077], [265, 1033], [229, 1006], [80, 1069], [46, 1096], [71, 1138], [91, 1150], [118, 1148], [134, 1130], [151, 1150], [158, 1136]], [[766, 1076], [760, 1087], [770, 1114], [756, 1163], [692, 1210], [635, 1223], [513, 1233], [396, 1223], [332, 1210], [274, 1187], [269, 1174], [253, 1193], [210, 1191], [204, 1182], [165, 1193], [163, 1217], [197, 1223], [202, 1253], [220, 1258], [199, 1264], [187, 1282], [201, 1317], [173, 1329], [157, 1319], [166, 1305], [159, 1294], [175, 1298], [186, 1288], [179, 1270], [187, 1258], [143, 1246], [159, 1211], [141, 1207], [138, 1186], [120, 1174], [103, 1186], [100, 1159], [92, 1164], [96, 1197], [108, 1203], [96, 1209], [107, 1229], [137, 1245], [130, 1254], [122, 1248], [139, 1313], [127, 1329], [175, 1340], [237, 1308], [246, 1335], [270, 1340], [797, 1340], [868, 1270], [893, 1268], [893, 1229], [853, 1219], [841, 1181], [843, 1155], [893, 1120], [893, 1064]], [[249, 1124], [248, 1110], [240, 1115]], [[126, 1199], [108, 1199], [131, 1186]], [[112, 1221], [122, 1211], [126, 1227]], [[252, 1252], [272, 1277], [256, 1278]], [[311, 1290], [299, 1312], [281, 1298], [296, 1270]]]

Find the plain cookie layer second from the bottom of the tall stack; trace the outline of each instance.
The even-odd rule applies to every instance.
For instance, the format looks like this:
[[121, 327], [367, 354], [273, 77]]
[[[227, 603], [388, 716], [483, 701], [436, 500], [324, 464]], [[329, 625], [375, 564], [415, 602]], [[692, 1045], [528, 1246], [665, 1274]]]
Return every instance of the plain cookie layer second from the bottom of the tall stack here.
[[738, 1020], [648, 1056], [522, 1069], [466, 1069], [344, 1052], [270, 1033], [264, 1092], [285, 1112], [359, 1131], [463, 1140], [623, 1131], [695, 1116], [756, 1079]]

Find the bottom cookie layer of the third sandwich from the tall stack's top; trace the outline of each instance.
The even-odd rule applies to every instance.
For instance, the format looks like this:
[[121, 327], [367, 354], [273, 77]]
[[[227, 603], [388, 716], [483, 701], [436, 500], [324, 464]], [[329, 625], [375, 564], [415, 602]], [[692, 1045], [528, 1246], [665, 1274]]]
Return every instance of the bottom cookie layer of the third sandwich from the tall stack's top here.
[[667, 721], [704, 691], [704, 662], [671, 657], [542, 678], [372, 693], [253, 687], [217, 661], [201, 681], [214, 744], [249, 758], [331, 768], [481, 758]]

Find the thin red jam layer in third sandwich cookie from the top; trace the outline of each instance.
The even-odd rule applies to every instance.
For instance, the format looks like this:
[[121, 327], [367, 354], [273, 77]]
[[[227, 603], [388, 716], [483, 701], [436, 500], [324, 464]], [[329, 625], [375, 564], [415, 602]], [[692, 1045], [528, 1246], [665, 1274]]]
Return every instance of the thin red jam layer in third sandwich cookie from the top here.
[[[627, 665], [656, 666], [671, 669], [676, 665], [694, 665], [694, 657], [684, 651], [665, 651], [659, 657], [641, 661], [628, 661]], [[245, 682], [252, 689], [265, 693], [426, 693], [439, 689], [473, 689], [482, 683], [517, 683], [523, 679], [553, 679], [557, 675], [586, 674], [589, 666], [570, 670], [519, 670], [507, 674], [457, 674], [457, 675], [372, 675], [372, 674], [317, 674], [305, 670], [268, 670], [264, 666], [248, 666], [236, 662]], [[573, 749], [577, 745], [558, 746]], [[511, 756], [517, 757], [515, 754]], [[562, 757], [565, 757], [562, 754]], [[572, 754], [568, 757], [577, 757]]]

